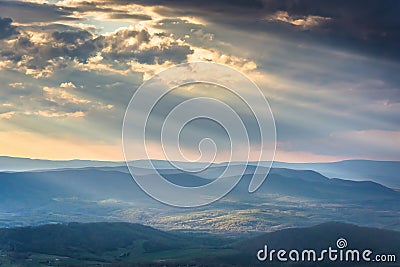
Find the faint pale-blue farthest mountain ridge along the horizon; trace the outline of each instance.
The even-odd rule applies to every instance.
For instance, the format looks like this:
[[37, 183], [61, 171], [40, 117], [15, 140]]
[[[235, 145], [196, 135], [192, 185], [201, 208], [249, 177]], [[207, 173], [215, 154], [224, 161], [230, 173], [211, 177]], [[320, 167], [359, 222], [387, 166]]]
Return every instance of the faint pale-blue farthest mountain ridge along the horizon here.
[[[158, 169], [173, 170], [173, 166], [162, 160], [153, 161]], [[132, 162], [136, 167], [142, 166], [142, 161]], [[237, 162], [234, 164], [243, 164]], [[250, 162], [248, 165], [252, 165]], [[263, 163], [269, 166], [269, 163]], [[186, 168], [196, 168], [196, 163], [185, 163]], [[223, 168], [226, 163], [213, 164], [212, 169], [207, 174], [218, 174], [217, 169]], [[28, 158], [0, 157], [0, 171], [32, 171], [48, 169], [66, 169], [66, 168], [88, 168], [88, 167], [120, 167], [121, 171], [127, 171], [125, 162], [110, 161], [91, 161], [91, 160], [69, 160], [52, 161]], [[329, 178], [340, 178], [354, 181], [373, 181], [394, 189], [400, 189], [400, 162], [399, 161], [372, 161], [372, 160], [345, 160], [339, 162], [326, 163], [285, 163], [274, 162], [275, 168], [287, 168], [294, 170], [313, 170]], [[204, 177], [203, 178], [207, 178]], [[210, 178], [210, 177], [208, 177]]]

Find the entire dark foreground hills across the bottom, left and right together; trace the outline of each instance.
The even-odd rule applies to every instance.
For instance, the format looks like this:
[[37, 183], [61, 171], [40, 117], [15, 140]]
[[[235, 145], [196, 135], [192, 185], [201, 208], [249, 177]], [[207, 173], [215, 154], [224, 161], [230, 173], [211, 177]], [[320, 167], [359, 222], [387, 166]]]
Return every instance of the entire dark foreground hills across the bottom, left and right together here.
[[[394, 255], [396, 262], [259, 262], [269, 249], [314, 249], [345, 238], [347, 248]], [[4, 266], [400, 266], [400, 232], [324, 223], [241, 240], [204, 234], [172, 233], [128, 223], [69, 223], [0, 229]], [[392, 259], [393, 261], [393, 259]]]

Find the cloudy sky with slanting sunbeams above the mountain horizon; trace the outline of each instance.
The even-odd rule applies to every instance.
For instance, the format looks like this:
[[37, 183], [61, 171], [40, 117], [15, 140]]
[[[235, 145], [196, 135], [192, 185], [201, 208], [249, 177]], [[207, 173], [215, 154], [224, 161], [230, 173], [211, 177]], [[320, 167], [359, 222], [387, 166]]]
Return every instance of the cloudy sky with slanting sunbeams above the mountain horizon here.
[[[275, 160], [400, 160], [399, 12], [391, 0], [2, 0], [0, 154], [122, 160], [137, 88], [207, 61], [262, 90]], [[220, 92], [181, 88], [163, 105]]]

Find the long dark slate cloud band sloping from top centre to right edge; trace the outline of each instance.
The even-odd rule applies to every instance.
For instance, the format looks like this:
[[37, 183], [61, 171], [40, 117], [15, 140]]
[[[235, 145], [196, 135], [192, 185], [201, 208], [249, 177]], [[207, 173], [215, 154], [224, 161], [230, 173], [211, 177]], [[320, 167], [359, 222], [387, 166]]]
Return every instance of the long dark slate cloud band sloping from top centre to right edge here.
[[[121, 4], [130, 1], [117, 1]], [[295, 42], [317, 41], [335, 47], [359, 50], [376, 56], [400, 59], [400, 1], [132, 1], [157, 6], [168, 16], [200, 16], [209, 21], [245, 28], [248, 31], [273, 32]], [[289, 19], [304, 20], [313, 27], [299, 27], [273, 19], [287, 12]], [[326, 20], [322, 20], [326, 18]], [[318, 21], [320, 19], [320, 21]]]

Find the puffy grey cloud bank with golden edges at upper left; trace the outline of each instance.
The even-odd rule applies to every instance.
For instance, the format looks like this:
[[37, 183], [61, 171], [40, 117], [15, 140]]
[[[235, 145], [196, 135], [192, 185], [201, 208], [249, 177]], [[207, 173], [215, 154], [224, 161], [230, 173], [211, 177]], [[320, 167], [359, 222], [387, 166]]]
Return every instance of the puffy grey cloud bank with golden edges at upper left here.
[[[33, 30], [35, 28], [28, 33], [21, 30], [15, 42], [3, 43], [0, 56], [14, 62], [14, 68], [18, 65], [19, 71], [36, 77], [48, 77], [55, 68], [64, 68], [71, 60], [85, 64], [98, 53], [115, 69], [130, 69], [126, 63], [132, 60], [148, 64], [180, 63], [193, 53], [189, 45], [178, 43], [170, 36], [150, 34], [147, 29], [125, 28], [99, 36], [72, 27], [64, 31], [46, 29], [38, 32], [36, 29], [32, 34]], [[40, 34], [41, 42], [34, 41], [33, 35], [36, 34]], [[152, 45], [152, 38], [161, 40]]]

